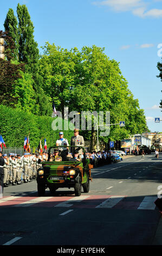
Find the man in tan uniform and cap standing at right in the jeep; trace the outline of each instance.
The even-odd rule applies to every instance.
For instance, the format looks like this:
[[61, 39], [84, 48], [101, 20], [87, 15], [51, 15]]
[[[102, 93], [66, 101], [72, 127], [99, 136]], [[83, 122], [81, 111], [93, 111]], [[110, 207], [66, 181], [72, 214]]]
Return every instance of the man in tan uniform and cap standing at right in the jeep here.
[[77, 148], [74, 148], [74, 147], [71, 148], [73, 157], [74, 157], [74, 151], [76, 150], [79, 152], [79, 157], [81, 158], [82, 148], [79, 148], [79, 146], [84, 147], [85, 141], [83, 139], [83, 136], [79, 135], [79, 129], [74, 129], [74, 136], [72, 136], [72, 138], [71, 138], [70, 146], [77, 146]]

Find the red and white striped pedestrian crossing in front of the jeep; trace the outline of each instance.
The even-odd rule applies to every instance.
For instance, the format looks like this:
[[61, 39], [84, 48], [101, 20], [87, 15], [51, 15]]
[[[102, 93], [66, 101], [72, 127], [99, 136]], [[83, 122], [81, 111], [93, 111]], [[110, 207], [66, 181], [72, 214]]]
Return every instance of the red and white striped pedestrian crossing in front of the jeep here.
[[[154, 204], [157, 197], [146, 196], [131, 198], [121, 195], [89, 195], [89, 196], [10, 196], [0, 199], [1, 207], [43, 207], [43, 208], [73, 208], [73, 209], [134, 209], [155, 210]], [[157, 208], [156, 208], [157, 209]]]

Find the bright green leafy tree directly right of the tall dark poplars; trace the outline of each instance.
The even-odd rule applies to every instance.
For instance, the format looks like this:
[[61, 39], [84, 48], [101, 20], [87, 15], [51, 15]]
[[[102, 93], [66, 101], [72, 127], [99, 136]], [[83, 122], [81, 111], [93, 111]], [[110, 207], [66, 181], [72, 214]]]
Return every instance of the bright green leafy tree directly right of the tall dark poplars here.
[[77, 49], [68, 51], [47, 42], [43, 50], [38, 71], [43, 78], [43, 90], [51, 101], [54, 100], [57, 111], [63, 113], [64, 106], [70, 107], [76, 75], [74, 68]]

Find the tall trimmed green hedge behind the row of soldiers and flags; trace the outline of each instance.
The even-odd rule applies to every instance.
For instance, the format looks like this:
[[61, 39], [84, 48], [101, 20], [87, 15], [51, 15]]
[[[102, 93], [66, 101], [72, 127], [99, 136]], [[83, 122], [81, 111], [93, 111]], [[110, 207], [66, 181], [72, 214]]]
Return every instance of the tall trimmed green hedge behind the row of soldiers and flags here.
[[[51, 117], [38, 116], [21, 109], [0, 105], [0, 134], [7, 147], [23, 147], [24, 137], [28, 136], [29, 132], [31, 148], [37, 148], [41, 138], [42, 147], [44, 147], [44, 138], [47, 139], [48, 148], [55, 145], [59, 138], [59, 130], [52, 129], [53, 120], [54, 118]], [[61, 131], [70, 143], [73, 131]]]

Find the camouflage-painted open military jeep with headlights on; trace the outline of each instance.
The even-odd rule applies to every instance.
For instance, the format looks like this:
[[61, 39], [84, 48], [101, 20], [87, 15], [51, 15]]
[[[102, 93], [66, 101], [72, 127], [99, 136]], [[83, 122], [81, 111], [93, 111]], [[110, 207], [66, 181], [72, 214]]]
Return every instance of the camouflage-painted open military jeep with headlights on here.
[[[67, 146], [61, 146], [67, 147]], [[75, 147], [76, 146], [71, 146]], [[81, 189], [83, 192], [89, 192], [89, 180], [92, 181], [90, 170], [93, 165], [90, 164], [89, 159], [86, 159], [85, 149], [83, 147], [83, 159], [81, 161], [51, 161], [50, 152], [53, 148], [50, 147], [48, 150], [48, 161], [41, 162], [42, 167], [37, 170], [37, 192], [38, 196], [44, 196], [46, 188], [49, 188], [52, 195], [58, 188], [74, 188], [75, 196], [81, 195]], [[67, 159], [68, 160], [68, 159]]]

